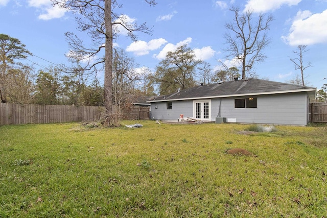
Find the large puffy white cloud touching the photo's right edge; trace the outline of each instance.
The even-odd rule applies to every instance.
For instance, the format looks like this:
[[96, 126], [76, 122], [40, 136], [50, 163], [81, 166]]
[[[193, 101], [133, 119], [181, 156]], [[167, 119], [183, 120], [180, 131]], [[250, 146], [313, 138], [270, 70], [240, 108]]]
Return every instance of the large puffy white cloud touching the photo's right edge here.
[[327, 42], [327, 10], [320, 14], [299, 11], [287, 36], [282, 36], [289, 45], [312, 45]]

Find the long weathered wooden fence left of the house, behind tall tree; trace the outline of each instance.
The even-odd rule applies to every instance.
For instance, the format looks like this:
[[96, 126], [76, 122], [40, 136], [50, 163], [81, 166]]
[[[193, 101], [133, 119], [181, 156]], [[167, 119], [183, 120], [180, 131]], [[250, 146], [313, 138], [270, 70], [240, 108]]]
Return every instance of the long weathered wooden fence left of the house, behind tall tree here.
[[[82, 122], [99, 119], [104, 107], [0, 104], [0, 125]], [[149, 107], [124, 111], [126, 119], [149, 119]]]

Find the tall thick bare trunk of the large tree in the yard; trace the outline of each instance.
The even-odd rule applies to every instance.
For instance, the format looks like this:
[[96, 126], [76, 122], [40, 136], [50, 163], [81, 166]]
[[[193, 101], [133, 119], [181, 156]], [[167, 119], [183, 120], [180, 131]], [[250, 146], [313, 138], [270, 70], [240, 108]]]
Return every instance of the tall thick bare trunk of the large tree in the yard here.
[[[111, 119], [112, 114], [112, 22], [111, 22], [111, 0], [105, 0], [105, 68], [104, 68], [104, 103], [106, 113]], [[108, 120], [109, 125], [111, 120]]]

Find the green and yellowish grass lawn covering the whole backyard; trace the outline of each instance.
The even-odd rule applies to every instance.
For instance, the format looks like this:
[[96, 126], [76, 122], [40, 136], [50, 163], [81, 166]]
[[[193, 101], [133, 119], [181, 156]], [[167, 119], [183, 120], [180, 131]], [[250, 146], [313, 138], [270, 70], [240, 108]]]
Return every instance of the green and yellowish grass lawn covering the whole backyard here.
[[326, 127], [136, 123], [0, 126], [0, 217], [327, 216]]

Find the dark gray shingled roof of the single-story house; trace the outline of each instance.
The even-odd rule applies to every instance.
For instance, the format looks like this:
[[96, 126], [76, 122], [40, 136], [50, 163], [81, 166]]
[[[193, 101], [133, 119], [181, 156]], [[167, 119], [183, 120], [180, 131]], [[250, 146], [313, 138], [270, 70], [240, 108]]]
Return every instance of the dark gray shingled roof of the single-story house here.
[[216, 84], [200, 85], [177, 91], [172, 94], [157, 96], [148, 102], [180, 101], [192, 99], [225, 98], [231, 96], [308, 92], [315, 96], [316, 88], [259, 79], [245, 79]]

